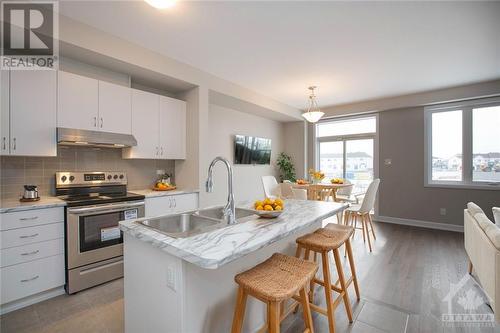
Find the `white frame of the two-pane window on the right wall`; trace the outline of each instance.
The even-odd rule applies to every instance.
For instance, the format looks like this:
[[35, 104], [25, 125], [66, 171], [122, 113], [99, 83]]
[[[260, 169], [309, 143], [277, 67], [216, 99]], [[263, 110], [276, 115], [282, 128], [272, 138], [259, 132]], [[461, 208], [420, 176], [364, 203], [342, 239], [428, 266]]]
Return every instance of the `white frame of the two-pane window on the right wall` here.
[[[500, 190], [500, 182], [473, 180], [473, 117], [479, 107], [500, 106], [500, 97], [473, 99], [424, 107], [424, 187]], [[432, 180], [432, 115], [439, 112], [462, 111], [462, 180]]]

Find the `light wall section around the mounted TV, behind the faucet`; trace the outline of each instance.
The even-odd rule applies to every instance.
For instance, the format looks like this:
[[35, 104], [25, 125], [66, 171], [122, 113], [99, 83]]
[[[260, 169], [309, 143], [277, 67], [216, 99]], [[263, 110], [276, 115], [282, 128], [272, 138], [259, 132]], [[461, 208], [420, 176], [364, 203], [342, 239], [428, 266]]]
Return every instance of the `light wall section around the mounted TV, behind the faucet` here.
[[[263, 197], [261, 176], [274, 175], [278, 177], [275, 161], [276, 156], [284, 149], [283, 123], [210, 104], [207, 135], [209, 142], [205, 144], [207, 147], [206, 159], [201, 167], [208, 171], [208, 165], [216, 156], [226, 157], [233, 164], [235, 134], [272, 140], [271, 165], [233, 166], [236, 201]], [[205, 196], [202, 203], [204, 206], [221, 205], [226, 202], [227, 171], [225, 169], [223, 164], [218, 164], [215, 167], [214, 192]]]

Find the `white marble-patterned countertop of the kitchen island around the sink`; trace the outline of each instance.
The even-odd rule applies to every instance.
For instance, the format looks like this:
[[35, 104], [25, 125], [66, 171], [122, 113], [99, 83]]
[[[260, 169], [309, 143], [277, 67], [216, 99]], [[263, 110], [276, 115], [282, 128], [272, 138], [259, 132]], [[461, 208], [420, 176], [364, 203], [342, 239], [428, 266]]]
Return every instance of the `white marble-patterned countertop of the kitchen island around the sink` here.
[[[241, 203], [238, 207], [248, 207]], [[121, 221], [120, 229], [194, 265], [216, 269], [248, 253], [287, 237], [317, 221], [343, 211], [348, 204], [286, 200], [285, 211], [276, 219], [255, 219], [188, 238], [172, 238], [134, 220]]]

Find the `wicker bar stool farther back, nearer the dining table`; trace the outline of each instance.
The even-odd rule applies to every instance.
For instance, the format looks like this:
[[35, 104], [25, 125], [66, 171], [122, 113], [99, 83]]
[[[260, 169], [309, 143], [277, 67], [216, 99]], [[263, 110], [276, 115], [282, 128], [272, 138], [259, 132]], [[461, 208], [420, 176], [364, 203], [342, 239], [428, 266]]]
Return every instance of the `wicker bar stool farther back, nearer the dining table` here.
[[[319, 280], [316, 277], [311, 280], [309, 301], [311, 310], [319, 312], [328, 317], [328, 326], [330, 333], [335, 332], [335, 309], [342, 300], [344, 300], [347, 318], [349, 319], [349, 322], [352, 323], [352, 309], [347, 289], [351, 284], [354, 284], [356, 297], [358, 301], [360, 300], [358, 279], [356, 277], [356, 268], [354, 266], [354, 258], [352, 256], [350, 239], [353, 232], [354, 228], [351, 226], [330, 223], [324, 228], [318, 229], [313, 233], [297, 238], [297, 258], [300, 258], [302, 256], [302, 250], [305, 250], [305, 260], [309, 260], [311, 252], [314, 253], [314, 261], [316, 261], [316, 255], [318, 253], [321, 255], [323, 280]], [[348, 280], [345, 279], [344, 270], [342, 268], [342, 262], [340, 260], [339, 254], [339, 248], [344, 244], [347, 250], [349, 266], [351, 267], [351, 277]], [[338, 280], [334, 284], [331, 283], [330, 264], [328, 260], [328, 253], [330, 251], [333, 251], [333, 257], [335, 259], [335, 265], [339, 276]], [[326, 310], [313, 304], [315, 284], [323, 286], [325, 290], [327, 306]], [[335, 300], [332, 298], [332, 291], [335, 291], [339, 294]]]

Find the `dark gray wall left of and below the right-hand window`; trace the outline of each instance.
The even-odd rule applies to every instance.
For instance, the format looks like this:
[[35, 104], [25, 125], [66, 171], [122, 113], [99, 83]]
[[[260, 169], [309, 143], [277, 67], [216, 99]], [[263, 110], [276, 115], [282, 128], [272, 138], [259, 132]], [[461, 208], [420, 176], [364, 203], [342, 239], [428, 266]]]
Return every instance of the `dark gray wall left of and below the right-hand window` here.
[[[380, 112], [379, 215], [463, 225], [463, 209], [474, 201], [492, 218], [500, 191], [424, 187], [424, 109]], [[384, 159], [392, 165], [384, 165]], [[440, 215], [446, 208], [446, 216]]]

